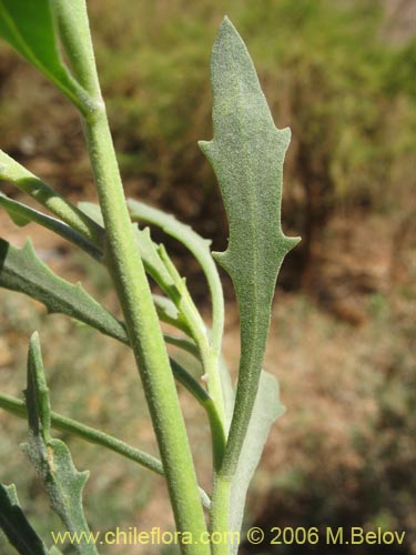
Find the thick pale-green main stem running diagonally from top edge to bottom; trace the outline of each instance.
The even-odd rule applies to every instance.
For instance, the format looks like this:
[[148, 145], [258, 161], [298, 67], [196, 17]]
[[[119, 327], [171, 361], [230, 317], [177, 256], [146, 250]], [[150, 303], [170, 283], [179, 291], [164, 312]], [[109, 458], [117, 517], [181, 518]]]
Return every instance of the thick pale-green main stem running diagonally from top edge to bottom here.
[[[153, 428], [180, 532], [199, 538], [206, 531], [196, 475], [166, 346], [142, 260], [138, 253], [97, 74], [84, 0], [55, 0], [61, 39], [75, 78], [90, 95], [83, 113], [112, 275], [134, 357], [142, 379]], [[209, 546], [181, 545], [185, 555], [210, 555]]]

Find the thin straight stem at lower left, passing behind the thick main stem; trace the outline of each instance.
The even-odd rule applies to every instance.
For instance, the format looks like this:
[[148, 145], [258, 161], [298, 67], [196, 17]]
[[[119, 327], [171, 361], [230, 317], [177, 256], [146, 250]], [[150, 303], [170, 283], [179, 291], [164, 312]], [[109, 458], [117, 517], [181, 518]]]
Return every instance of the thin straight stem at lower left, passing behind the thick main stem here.
[[[0, 394], [0, 407], [14, 416], [19, 416], [20, 418], [26, 420], [28, 417], [24, 401], [10, 395], [6, 395], [3, 393]], [[129, 458], [130, 461], [140, 464], [144, 468], [148, 468], [160, 476], [164, 476], [163, 465], [159, 458], [145, 453], [144, 451], [132, 447], [128, 443], [124, 443], [105, 432], [87, 426], [81, 422], [68, 418], [67, 416], [62, 416], [54, 412], [51, 412], [51, 425], [54, 430], [75, 435], [88, 443], [101, 445], [102, 447], [118, 453], [124, 458]], [[206, 492], [202, 490], [202, 487], [200, 487], [200, 495], [204, 507], [210, 508], [210, 497]]]

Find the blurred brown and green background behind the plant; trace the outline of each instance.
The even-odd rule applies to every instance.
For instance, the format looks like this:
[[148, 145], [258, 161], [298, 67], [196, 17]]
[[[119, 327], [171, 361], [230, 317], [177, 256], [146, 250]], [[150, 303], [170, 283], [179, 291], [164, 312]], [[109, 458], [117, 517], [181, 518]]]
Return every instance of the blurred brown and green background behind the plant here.
[[[241, 553], [416, 554], [415, 2], [88, 4], [128, 195], [174, 213], [213, 239], [215, 250], [226, 245], [226, 219], [196, 141], [212, 138], [210, 50], [224, 12], [247, 44], [277, 127], [292, 129], [283, 225], [303, 241], [281, 272], [265, 361], [280, 381], [287, 412], [272, 428], [246, 525], [406, 531], [402, 546], [385, 551], [319, 543], [275, 551], [243, 546]], [[73, 201], [94, 200], [74, 110], [3, 43], [0, 129], [1, 148], [10, 155]], [[20, 198], [10, 185], [2, 190]], [[57, 272], [81, 280], [116, 310], [110, 283], [93, 262], [49, 232], [18, 229], [4, 214], [0, 218], [2, 236], [21, 245], [30, 234]], [[165, 243], [209, 314], [197, 265], [177, 244]], [[237, 311], [225, 274], [224, 287], [224, 350], [235, 371]], [[155, 452], [129, 353], [7, 291], [0, 291], [1, 391], [20, 396], [28, 337], [35, 329], [53, 408]], [[204, 415], [183, 392], [181, 400], [201, 482], [207, 484]], [[17, 483], [40, 532], [59, 529], [18, 447], [26, 424], [0, 412], [0, 432], [1, 482]], [[77, 466], [91, 470], [87, 506], [94, 529], [172, 526], [161, 480], [116, 455], [64, 440]], [[1, 541], [0, 553], [9, 554]], [[175, 552], [109, 546], [102, 553]]]

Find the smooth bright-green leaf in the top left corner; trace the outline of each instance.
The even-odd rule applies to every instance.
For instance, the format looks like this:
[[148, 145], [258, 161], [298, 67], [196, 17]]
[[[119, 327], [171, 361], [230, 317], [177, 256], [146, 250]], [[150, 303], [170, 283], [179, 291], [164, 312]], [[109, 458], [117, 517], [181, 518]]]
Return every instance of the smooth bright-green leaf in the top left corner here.
[[82, 89], [59, 52], [50, 0], [0, 0], [0, 37], [82, 108]]

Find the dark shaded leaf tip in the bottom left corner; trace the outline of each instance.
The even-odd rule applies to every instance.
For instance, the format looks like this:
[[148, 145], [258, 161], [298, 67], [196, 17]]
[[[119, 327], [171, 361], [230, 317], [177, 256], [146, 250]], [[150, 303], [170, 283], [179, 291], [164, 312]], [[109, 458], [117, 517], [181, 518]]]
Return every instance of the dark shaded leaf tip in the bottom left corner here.
[[19, 506], [14, 485], [0, 484], [0, 528], [20, 555], [49, 555]]

